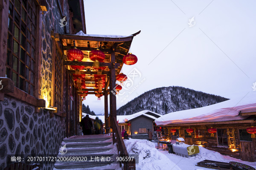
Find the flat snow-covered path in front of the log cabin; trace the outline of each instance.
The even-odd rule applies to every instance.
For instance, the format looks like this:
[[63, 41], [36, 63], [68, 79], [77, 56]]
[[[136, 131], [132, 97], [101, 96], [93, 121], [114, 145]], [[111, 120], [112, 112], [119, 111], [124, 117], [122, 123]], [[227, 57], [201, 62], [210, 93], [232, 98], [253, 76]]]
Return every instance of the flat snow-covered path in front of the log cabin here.
[[[157, 146], [157, 143], [155, 143], [155, 145]], [[167, 156], [169, 160], [174, 162], [182, 170], [212, 170], [205, 167], [195, 166], [197, 162], [204, 161], [205, 159], [212, 160], [212, 161], [222, 161], [222, 162], [236, 161], [236, 162], [241, 162], [243, 164], [247, 164], [256, 168], [256, 162], [242, 161], [241, 159], [232, 158], [230, 156], [224, 156], [218, 152], [208, 150], [200, 146], [199, 146], [200, 153], [197, 156], [193, 156], [190, 158], [168, 153], [168, 151], [163, 150], [161, 147], [158, 150], [160, 151], [160, 153], [163, 153], [165, 156]], [[173, 170], [173, 169], [170, 168], [169, 170]]]

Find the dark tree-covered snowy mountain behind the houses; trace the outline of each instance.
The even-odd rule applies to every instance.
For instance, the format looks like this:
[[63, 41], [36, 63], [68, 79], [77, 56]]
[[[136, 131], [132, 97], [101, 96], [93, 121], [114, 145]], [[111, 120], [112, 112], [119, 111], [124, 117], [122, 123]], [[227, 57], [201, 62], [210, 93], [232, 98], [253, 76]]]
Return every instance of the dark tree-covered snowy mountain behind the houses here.
[[143, 110], [166, 114], [200, 108], [228, 100], [221, 96], [178, 86], [155, 88], [136, 97], [117, 110], [117, 115], [130, 115]]

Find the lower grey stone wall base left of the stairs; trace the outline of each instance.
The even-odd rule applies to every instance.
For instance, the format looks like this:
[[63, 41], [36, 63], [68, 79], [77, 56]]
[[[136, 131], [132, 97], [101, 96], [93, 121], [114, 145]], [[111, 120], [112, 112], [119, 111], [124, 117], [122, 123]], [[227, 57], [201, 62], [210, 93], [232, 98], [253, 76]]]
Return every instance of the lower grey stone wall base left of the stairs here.
[[[0, 102], [0, 169], [6, 167], [6, 155], [57, 154], [65, 136], [65, 118], [49, 117], [49, 112], [5, 97]], [[53, 164], [42, 165], [43, 170]]]

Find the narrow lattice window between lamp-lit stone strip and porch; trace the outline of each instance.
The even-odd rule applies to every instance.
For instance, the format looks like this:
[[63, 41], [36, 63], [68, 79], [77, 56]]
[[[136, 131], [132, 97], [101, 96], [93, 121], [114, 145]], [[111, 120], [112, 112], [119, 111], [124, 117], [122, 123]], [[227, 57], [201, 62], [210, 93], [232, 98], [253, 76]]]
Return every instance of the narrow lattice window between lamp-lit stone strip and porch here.
[[[56, 49], [55, 54], [55, 93], [54, 93], [54, 106], [61, 109], [61, 103], [62, 103], [62, 84], [61, 84], [61, 71], [62, 71], [62, 58], [61, 55], [58, 53], [58, 50]], [[71, 99], [71, 110], [72, 110], [72, 99]]]

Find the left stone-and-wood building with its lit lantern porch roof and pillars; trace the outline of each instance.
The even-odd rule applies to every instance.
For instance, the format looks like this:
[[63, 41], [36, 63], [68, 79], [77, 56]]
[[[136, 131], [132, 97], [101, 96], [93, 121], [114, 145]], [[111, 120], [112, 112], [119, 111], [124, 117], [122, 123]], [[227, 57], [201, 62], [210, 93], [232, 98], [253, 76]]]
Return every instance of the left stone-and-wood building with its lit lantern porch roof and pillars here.
[[[116, 96], [111, 91], [139, 33], [86, 34], [83, 0], [0, 0], [0, 169], [11, 154], [57, 155], [62, 139], [78, 133], [86, 91], [104, 95], [106, 120], [108, 107], [111, 112], [106, 126], [117, 132], [113, 142], [122, 156], [127, 155], [116, 128]], [[75, 47], [82, 51], [81, 61], [67, 57]], [[89, 59], [97, 48], [105, 54], [98, 64]], [[100, 71], [95, 65], [106, 68]], [[73, 74], [83, 74], [83, 80], [76, 81]], [[104, 87], [96, 87], [94, 75], [105, 78]], [[52, 168], [45, 164], [43, 170]]]

